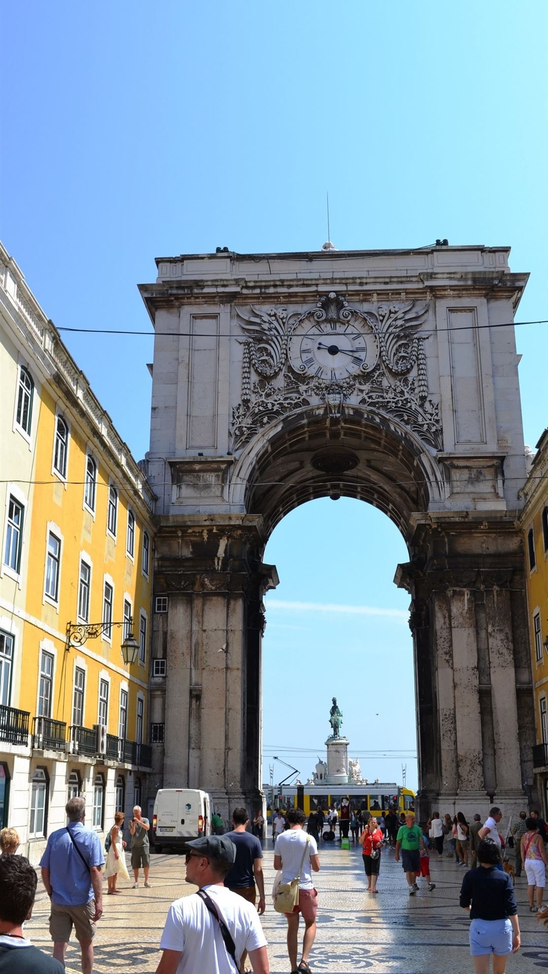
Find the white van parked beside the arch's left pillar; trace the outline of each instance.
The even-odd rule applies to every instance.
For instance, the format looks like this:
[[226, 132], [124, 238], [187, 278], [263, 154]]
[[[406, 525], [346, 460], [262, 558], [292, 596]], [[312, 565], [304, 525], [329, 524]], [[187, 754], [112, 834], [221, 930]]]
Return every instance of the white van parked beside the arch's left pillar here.
[[152, 841], [157, 852], [181, 849], [190, 839], [212, 834], [212, 800], [195, 788], [160, 788], [152, 812]]

